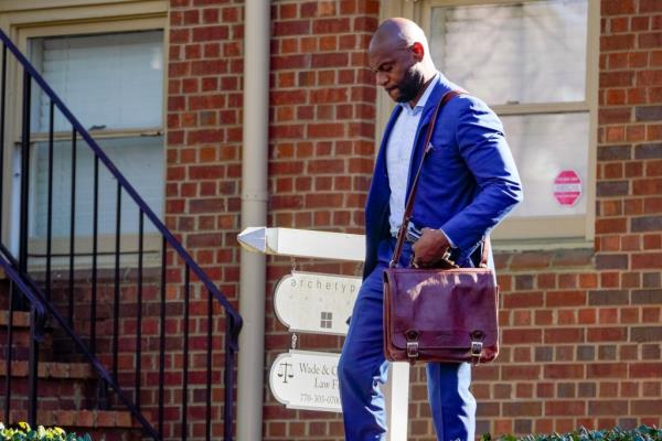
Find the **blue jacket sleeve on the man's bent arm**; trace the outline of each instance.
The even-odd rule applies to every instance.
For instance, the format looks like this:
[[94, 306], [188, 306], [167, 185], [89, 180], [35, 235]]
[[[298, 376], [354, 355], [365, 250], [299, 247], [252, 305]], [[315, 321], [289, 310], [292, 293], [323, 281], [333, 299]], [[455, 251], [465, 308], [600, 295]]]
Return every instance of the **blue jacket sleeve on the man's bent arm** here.
[[[523, 198], [520, 175], [496, 115], [480, 99], [456, 99], [456, 144], [477, 183], [472, 202], [441, 229], [465, 250], [473, 249]], [[455, 112], [455, 111], [453, 111]]]

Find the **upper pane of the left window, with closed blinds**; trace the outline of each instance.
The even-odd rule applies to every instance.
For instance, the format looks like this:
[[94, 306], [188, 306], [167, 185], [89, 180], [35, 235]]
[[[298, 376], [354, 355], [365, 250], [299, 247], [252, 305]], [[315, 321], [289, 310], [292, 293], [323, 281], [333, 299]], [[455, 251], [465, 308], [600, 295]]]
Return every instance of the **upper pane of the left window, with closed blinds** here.
[[[163, 32], [32, 39], [31, 58], [64, 104], [89, 129], [162, 126]], [[33, 130], [49, 130], [41, 93]], [[62, 116], [55, 130], [67, 130]]]

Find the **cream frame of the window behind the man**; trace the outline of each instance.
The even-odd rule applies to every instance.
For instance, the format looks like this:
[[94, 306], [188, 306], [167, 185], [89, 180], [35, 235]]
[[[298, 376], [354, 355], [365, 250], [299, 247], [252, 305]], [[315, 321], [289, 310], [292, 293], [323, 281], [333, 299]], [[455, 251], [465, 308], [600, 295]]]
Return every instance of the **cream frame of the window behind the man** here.
[[[535, 1], [535, 0], [533, 0]], [[588, 22], [586, 42], [586, 94], [583, 101], [572, 103], [543, 103], [522, 105], [491, 106], [499, 116], [510, 115], [541, 115], [541, 114], [569, 114], [588, 112], [589, 139], [588, 154], [588, 182], [584, 183], [586, 196], [586, 214], [568, 216], [526, 216], [509, 217], [493, 232], [492, 238], [501, 248], [562, 248], [562, 247], [592, 247], [595, 237], [595, 201], [596, 201], [596, 168], [598, 143], [598, 75], [599, 75], [599, 32], [600, 32], [600, 3], [599, 0], [587, 0]], [[513, 0], [419, 0], [417, 2], [402, 2], [401, 0], [386, 0], [382, 3], [382, 20], [388, 17], [406, 17], [423, 28], [426, 35], [430, 35], [431, 10], [436, 7], [467, 7], [479, 4], [516, 4]], [[451, 78], [452, 79], [452, 78]], [[461, 85], [460, 85], [461, 86]], [[382, 137], [388, 120], [393, 104], [378, 94], [376, 138]], [[526, 194], [524, 197], [535, 197]]]

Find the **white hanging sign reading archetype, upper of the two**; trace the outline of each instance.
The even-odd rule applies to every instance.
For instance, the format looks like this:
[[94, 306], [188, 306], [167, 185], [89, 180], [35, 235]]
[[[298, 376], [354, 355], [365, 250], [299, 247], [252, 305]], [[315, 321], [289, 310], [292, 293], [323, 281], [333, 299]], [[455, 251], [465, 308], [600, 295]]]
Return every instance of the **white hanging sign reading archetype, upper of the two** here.
[[360, 287], [360, 277], [292, 271], [276, 287], [276, 315], [290, 332], [345, 335]]

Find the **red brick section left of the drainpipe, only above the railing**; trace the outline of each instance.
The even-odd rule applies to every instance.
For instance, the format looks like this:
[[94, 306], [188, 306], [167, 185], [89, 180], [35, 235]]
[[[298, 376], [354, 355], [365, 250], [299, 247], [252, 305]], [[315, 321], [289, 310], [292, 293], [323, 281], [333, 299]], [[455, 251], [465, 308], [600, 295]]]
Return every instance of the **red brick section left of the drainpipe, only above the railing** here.
[[172, 0], [166, 224], [234, 298], [238, 281], [243, 4]]

